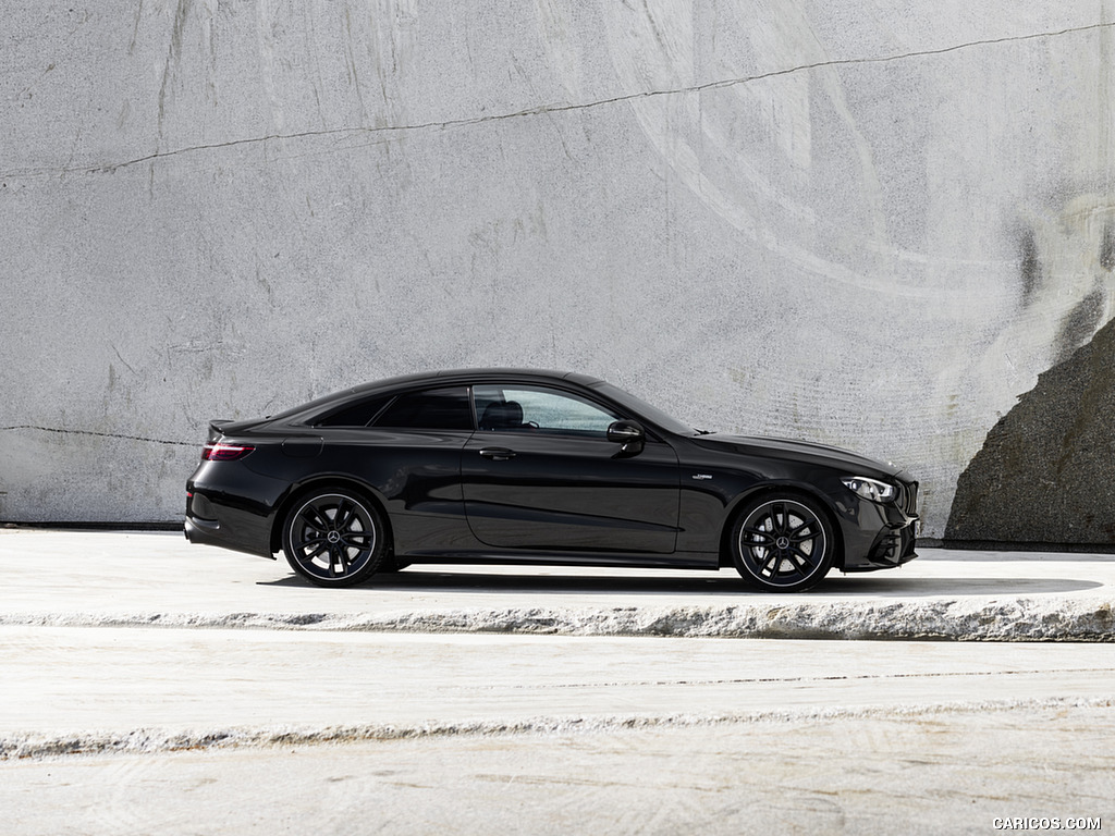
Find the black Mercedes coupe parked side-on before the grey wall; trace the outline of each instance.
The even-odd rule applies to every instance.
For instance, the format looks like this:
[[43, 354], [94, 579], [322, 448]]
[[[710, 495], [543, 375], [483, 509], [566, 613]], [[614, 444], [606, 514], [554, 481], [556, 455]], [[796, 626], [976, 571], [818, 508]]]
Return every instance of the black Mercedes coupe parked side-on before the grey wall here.
[[734, 565], [793, 592], [912, 560], [918, 483], [805, 441], [692, 429], [584, 375], [411, 375], [214, 420], [186, 537], [321, 586], [411, 563]]

